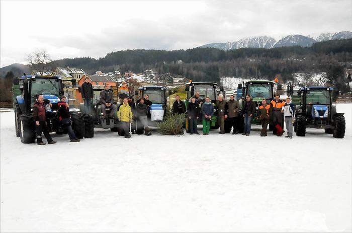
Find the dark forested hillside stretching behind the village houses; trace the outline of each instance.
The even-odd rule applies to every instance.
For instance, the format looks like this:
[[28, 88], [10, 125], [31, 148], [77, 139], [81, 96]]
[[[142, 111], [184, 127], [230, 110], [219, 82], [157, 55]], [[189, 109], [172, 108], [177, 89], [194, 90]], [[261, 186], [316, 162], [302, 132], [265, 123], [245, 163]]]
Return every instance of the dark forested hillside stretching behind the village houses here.
[[88, 73], [98, 70], [141, 73], [153, 69], [160, 74], [180, 74], [204, 81], [219, 81], [220, 76], [273, 78], [281, 75], [285, 81], [292, 79], [295, 72], [322, 72], [327, 71], [331, 64], [346, 62], [352, 62], [352, 39], [319, 42], [312, 47], [273, 49], [137, 49], [111, 52], [99, 59], [83, 57], [56, 60], [48, 65], [53, 68], [79, 67]]

